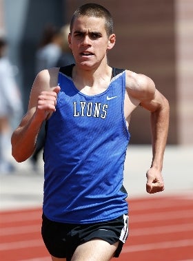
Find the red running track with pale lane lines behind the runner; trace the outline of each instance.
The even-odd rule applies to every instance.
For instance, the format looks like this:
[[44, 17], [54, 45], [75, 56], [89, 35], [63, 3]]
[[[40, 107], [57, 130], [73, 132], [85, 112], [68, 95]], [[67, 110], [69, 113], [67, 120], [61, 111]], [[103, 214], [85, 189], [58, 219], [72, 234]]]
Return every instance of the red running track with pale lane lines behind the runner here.
[[[50, 261], [41, 239], [41, 208], [0, 213], [0, 260]], [[119, 261], [192, 261], [191, 196], [130, 200], [130, 236]]]

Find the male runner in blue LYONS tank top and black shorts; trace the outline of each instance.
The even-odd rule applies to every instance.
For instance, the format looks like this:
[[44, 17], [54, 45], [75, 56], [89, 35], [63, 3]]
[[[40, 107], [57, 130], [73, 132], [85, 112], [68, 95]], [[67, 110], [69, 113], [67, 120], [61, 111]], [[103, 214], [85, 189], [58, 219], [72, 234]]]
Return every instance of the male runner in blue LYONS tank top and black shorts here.
[[53, 261], [108, 261], [128, 236], [123, 165], [128, 127], [141, 105], [151, 114], [153, 158], [148, 193], [163, 191], [169, 105], [152, 79], [110, 67], [115, 44], [110, 12], [95, 3], [78, 8], [69, 46], [76, 65], [43, 70], [34, 80], [27, 114], [12, 134], [12, 155], [34, 152], [46, 121], [42, 235]]

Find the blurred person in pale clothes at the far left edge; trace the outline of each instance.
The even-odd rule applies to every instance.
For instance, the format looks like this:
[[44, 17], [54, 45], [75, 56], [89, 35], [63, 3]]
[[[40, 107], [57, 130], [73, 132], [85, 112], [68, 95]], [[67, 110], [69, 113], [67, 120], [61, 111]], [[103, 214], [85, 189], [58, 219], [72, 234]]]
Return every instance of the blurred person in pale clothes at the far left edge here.
[[14, 79], [17, 73], [8, 59], [8, 43], [0, 36], [0, 174], [14, 170], [11, 163], [12, 123], [23, 113], [21, 94]]

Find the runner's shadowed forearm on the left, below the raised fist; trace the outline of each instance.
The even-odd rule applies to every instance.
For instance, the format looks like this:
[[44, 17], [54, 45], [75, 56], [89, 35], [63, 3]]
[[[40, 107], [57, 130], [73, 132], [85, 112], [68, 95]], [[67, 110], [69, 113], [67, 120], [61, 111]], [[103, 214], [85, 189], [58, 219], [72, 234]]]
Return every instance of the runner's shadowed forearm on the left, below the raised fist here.
[[41, 124], [34, 116], [29, 121], [24, 117], [21, 125], [13, 132], [12, 156], [17, 162], [23, 162], [32, 156]]

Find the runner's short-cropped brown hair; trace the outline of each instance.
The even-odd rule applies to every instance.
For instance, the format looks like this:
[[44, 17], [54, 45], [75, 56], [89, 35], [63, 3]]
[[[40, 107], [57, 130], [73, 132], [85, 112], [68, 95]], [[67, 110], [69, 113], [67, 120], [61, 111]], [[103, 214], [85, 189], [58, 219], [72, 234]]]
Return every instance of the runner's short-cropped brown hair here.
[[113, 20], [110, 12], [104, 8], [103, 6], [97, 3], [86, 3], [83, 6], [80, 6], [72, 15], [72, 19], [70, 22], [70, 32], [72, 32], [72, 28], [74, 25], [74, 20], [78, 17], [86, 16], [86, 17], [99, 17], [105, 19], [105, 30], [110, 36], [113, 33]]

